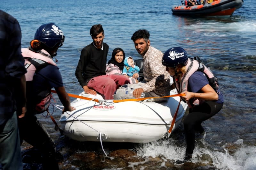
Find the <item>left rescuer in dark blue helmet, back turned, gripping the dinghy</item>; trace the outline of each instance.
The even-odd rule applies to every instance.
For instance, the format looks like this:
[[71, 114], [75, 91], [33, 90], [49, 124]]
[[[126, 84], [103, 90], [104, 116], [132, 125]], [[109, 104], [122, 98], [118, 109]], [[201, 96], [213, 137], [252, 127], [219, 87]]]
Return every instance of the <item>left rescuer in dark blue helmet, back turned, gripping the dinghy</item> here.
[[[30, 42], [30, 47], [21, 49], [21, 54], [26, 59], [25, 67], [28, 72], [25, 74], [27, 81], [27, 113], [25, 117], [18, 121], [20, 139], [21, 143], [23, 139], [40, 151], [44, 170], [59, 169], [59, 165], [54, 141], [35, 116], [35, 114], [44, 112], [45, 107], [48, 108], [49, 106], [45, 106], [41, 110], [40, 107], [38, 108], [38, 103], [42, 103], [48, 97], [50, 99], [51, 89], [54, 87], [64, 106], [62, 111], [75, 110], [74, 107], [70, 106], [70, 100], [63, 86], [59, 68], [52, 60], [57, 55], [58, 48], [63, 45], [64, 38], [63, 32], [56, 24], [43, 24], [36, 30], [34, 40]], [[38, 62], [39, 60], [40, 62]], [[44, 64], [36, 67], [37, 62]], [[36, 68], [36, 71], [33, 68]]]

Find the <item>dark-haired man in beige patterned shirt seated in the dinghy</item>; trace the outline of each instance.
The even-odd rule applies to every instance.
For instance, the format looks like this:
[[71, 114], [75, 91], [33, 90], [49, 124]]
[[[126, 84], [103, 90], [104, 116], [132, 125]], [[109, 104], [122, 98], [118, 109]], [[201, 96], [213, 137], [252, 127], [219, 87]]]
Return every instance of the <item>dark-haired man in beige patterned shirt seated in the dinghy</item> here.
[[[139, 98], [142, 92], [145, 97], [161, 97], [170, 95], [170, 75], [162, 64], [163, 53], [150, 46], [149, 32], [145, 29], [138, 30], [132, 35], [134, 47], [143, 57], [143, 74], [146, 83], [133, 91], [135, 98]], [[168, 98], [155, 99], [154, 101], [167, 100]]]

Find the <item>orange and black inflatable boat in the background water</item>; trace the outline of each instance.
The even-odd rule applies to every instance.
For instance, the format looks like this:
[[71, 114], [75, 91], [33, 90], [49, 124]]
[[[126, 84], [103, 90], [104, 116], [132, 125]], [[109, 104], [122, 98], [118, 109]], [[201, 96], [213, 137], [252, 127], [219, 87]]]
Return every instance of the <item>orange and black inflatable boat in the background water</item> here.
[[204, 5], [180, 5], [172, 8], [172, 14], [190, 17], [231, 17], [234, 11], [239, 9], [243, 3], [243, 0], [214, 0], [212, 3]]

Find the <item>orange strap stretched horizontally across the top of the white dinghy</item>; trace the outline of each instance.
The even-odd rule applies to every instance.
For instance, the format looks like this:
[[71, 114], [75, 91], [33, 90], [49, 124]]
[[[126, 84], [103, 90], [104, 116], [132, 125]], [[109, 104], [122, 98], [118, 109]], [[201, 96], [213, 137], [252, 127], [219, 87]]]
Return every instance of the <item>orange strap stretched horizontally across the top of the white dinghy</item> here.
[[[51, 92], [53, 93], [57, 93], [55, 90], [51, 90]], [[84, 99], [84, 100], [91, 100], [91, 101], [95, 101], [95, 102], [100, 102], [100, 100], [98, 99], [92, 99], [92, 98], [88, 98], [88, 97], [84, 97], [84, 96], [79, 96], [76, 94], [70, 94], [67, 93], [69, 97], [74, 97], [74, 98], [79, 98], [79, 99]], [[114, 103], [120, 103], [120, 102], [124, 102], [124, 101], [141, 101], [141, 100], [146, 100], [146, 99], [154, 99], [154, 98], [167, 98], [167, 97], [177, 97], [177, 96], [185, 96], [186, 94], [173, 94], [170, 96], [163, 96], [163, 97], [144, 97], [144, 98], [139, 98], [139, 99], [123, 99], [123, 100], [113, 100]]]

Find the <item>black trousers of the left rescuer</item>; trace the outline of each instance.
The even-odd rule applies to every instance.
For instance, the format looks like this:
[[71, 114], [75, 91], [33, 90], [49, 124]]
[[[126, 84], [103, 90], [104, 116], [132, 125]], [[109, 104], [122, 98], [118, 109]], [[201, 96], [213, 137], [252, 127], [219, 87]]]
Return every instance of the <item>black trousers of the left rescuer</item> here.
[[41, 152], [43, 156], [43, 168], [58, 170], [59, 166], [56, 159], [54, 141], [44, 126], [37, 120], [36, 116], [27, 112], [25, 117], [19, 119], [18, 125], [21, 143], [23, 139]]

